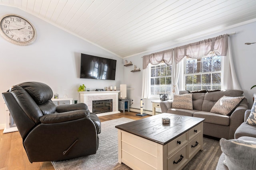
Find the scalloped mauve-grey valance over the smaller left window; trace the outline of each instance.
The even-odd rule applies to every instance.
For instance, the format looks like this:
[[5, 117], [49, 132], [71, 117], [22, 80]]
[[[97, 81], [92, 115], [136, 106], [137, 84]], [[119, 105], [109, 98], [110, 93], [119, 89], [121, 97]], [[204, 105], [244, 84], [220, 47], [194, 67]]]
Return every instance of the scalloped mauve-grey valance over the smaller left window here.
[[173, 50], [174, 49], [168, 49], [165, 51], [152, 53], [150, 55], [144, 55], [143, 56], [143, 69], [146, 69], [149, 63], [156, 65], [156, 64], [161, 63], [162, 61], [164, 61], [164, 63], [166, 63], [168, 65], [172, 65]]

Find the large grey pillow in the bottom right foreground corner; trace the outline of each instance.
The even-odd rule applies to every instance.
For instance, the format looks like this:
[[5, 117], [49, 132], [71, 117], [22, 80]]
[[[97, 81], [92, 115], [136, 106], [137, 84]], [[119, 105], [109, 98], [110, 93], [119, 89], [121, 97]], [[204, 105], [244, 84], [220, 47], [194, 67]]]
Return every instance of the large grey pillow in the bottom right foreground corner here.
[[226, 155], [224, 164], [230, 170], [255, 170], [256, 142], [242, 139], [220, 139], [222, 152]]

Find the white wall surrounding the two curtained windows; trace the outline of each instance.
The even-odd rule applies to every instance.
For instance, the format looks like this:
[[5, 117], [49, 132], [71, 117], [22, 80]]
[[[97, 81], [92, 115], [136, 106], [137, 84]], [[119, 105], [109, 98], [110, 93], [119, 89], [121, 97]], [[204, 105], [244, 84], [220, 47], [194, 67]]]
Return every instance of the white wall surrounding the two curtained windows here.
[[[148, 53], [144, 53], [141, 55], [137, 55], [134, 57], [129, 57], [124, 59], [128, 60], [129, 62], [132, 61], [134, 65], [137, 67], [140, 67], [142, 69], [142, 56], [148, 55], [151, 53], [155, 53], [158, 51], [178, 47], [181, 45], [186, 45], [188, 43], [197, 42], [203, 39], [208, 39], [212, 37], [216, 37], [218, 35], [226, 34], [226, 33], [232, 33], [236, 32], [235, 35], [230, 35], [230, 40], [232, 44], [232, 51], [234, 55], [234, 68], [236, 70], [238, 82], [240, 83], [240, 86], [242, 90], [244, 91], [244, 95], [248, 99], [249, 102], [249, 108], [252, 106], [252, 97], [253, 94], [256, 93], [256, 88], [253, 88], [250, 90], [250, 88], [253, 85], [256, 85], [255, 80], [255, 65], [256, 65], [256, 44], [252, 45], [244, 45], [246, 42], [256, 42], [256, 22], [250, 23], [247, 25], [239, 26], [232, 29], [227, 29], [225, 31], [215, 33], [212, 35], [208, 35], [206, 37], [200, 37], [198, 39], [194, 39], [192, 41], [179, 43], [164, 49], [159, 49], [157, 51], [150, 51]], [[134, 68], [127, 67], [124, 68], [124, 74], [125, 79], [124, 82], [127, 84], [127, 86], [134, 88], [134, 90], [127, 91], [127, 96], [130, 99], [134, 100], [134, 104], [132, 104], [131, 107], [133, 108], [140, 108], [140, 99], [142, 94], [142, 71], [140, 72], [130, 72], [130, 70], [133, 70]], [[132, 81], [130, 81], [132, 80]], [[152, 110], [152, 100], [159, 100], [157, 99], [143, 99], [144, 105], [143, 108], [146, 110]], [[158, 111], [158, 109], [156, 109]]]

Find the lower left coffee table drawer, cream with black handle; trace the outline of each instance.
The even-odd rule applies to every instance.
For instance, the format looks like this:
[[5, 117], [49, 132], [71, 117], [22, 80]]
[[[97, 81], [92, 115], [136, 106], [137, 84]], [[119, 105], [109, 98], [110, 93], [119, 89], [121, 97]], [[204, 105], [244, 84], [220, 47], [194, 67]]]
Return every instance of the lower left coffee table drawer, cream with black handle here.
[[168, 170], [178, 170], [188, 161], [188, 145], [185, 145], [167, 160]]

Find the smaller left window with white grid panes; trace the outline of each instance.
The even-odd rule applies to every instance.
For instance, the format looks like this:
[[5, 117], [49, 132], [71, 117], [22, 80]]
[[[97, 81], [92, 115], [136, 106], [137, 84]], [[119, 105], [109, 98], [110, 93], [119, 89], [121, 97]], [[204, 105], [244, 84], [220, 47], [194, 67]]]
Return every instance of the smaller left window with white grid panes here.
[[159, 97], [159, 94], [171, 94], [172, 66], [164, 62], [151, 65], [151, 96]]

